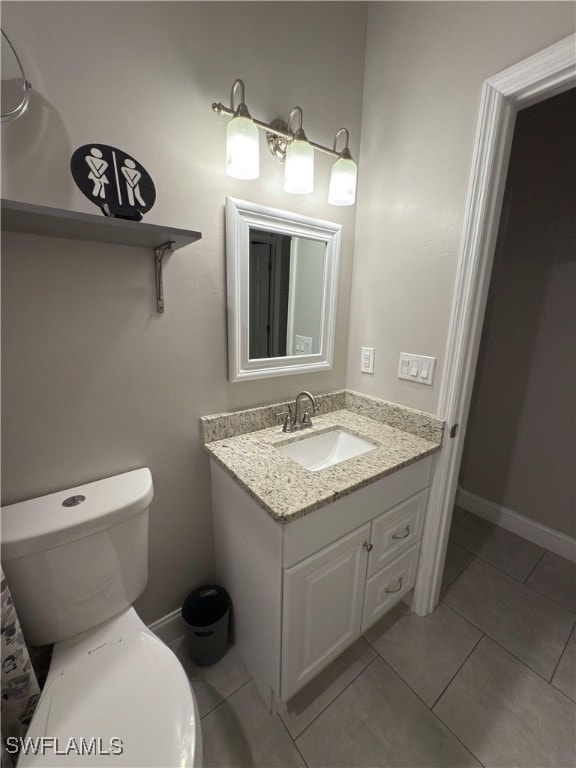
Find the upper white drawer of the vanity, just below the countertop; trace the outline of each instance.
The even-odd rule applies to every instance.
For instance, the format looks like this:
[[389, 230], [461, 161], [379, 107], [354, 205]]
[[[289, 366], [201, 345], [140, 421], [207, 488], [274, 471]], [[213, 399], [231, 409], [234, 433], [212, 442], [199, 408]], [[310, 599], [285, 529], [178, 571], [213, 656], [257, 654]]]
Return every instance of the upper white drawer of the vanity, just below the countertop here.
[[428, 491], [421, 491], [374, 520], [368, 576], [373, 576], [420, 541], [427, 498]]

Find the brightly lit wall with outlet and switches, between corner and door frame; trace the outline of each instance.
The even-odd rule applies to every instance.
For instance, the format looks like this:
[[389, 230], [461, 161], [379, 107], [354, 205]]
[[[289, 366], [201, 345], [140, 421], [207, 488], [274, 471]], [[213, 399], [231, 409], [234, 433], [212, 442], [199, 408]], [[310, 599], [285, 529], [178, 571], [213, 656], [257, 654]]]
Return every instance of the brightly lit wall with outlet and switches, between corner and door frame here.
[[[482, 84], [574, 28], [572, 3], [369, 3], [351, 389], [436, 412]], [[433, 387], [400, 352], [438, 358]]]

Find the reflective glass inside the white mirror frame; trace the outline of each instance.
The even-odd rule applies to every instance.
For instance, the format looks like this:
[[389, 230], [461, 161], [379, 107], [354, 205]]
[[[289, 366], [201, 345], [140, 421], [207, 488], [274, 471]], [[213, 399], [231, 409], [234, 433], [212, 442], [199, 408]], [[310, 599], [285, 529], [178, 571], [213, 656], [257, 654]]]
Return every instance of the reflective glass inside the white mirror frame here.
[[250, 229], [250, 360], [317, 354], [326, 243]]

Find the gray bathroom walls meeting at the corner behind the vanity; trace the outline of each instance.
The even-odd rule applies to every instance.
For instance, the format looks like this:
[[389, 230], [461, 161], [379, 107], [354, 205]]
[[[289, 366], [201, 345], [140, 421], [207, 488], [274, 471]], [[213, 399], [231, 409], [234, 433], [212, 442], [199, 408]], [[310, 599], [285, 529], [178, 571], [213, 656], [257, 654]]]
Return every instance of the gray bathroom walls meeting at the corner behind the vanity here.
[[[29, 112], [2, 126], [3, 196], [94, 210], [69, 158], [108, 143], [156, 181], [146, 221], [203, 233], [168, 260], [163, 317], [146, 251], [3, 240], [3, 502], [149, 466], [151, 573], [137, 607], [151, 621], [213, 573], [200, 415], [345, 383], [435, 411], [438, 384], [399, 382], [396, 367], [400, 351], [441, 367], [482, 82], [572, 32], [573, 7], [368, 3], [364, 93], [363, 3], [4, 2], [2, 12], [34, 84]], [[226, 121], [210, 105], [227, 102], [236, 77], [258, 117], [299, 104], [324, 144], [350, 129], [356, 242], [356, 210], [326, 203], [329, 158], [317, 155], [307, 197], [283, 192], [265, 152], [257, 182], [225, 175]], [[343, 224], [331, 372], [227, 382], [226, 195]], [[361, 346], [376, 347], [373, 377], [358, 372]]]

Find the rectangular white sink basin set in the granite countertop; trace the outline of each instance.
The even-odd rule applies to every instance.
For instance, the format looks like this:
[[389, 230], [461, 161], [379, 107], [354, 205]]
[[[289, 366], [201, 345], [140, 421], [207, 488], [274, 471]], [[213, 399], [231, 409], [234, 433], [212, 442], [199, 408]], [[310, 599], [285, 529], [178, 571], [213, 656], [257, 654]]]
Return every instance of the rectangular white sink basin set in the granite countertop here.
[[376, 446], [372, 443], [337, 429], [333, 432], [306, 437], [296, 443], [288, 443], [278, 447], [278, 450], [310, 472], [318, 472], [320, 469], [339, 464], [354, 456], [361, 456], [374, 448]]

